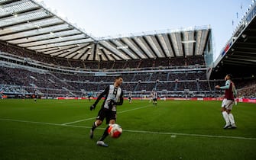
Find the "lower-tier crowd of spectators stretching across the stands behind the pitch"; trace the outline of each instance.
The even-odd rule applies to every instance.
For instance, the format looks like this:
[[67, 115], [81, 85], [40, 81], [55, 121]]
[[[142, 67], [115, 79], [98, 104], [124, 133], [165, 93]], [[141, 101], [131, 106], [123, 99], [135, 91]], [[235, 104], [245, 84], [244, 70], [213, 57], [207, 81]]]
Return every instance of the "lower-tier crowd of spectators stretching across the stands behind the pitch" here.
[[[206, 81], [206, 72], [144, 72], [123, 74], [124, 91], [215, 91], [214, 86], [224, 83], [224, 80]], [[28, 70], [18, 68], [0, 67], [1, 84], [13, 86], [26, 86], [19, 88], [5, 88], [5, 91], [33, 93], [37, 88], [42, 94], [48, 96], [60, 95], [83, 95], [83, 91], [102, 91], [107, 85], [112, 84], [113, 76], [92, 76], [82, 74], [63, 74], [57, 72], [41, 72], [39, 70]], [[205, 77], [205, 78], [204, 78]], [[255, 97], [255, 81], [237, 82], [240, 97]], [[242, 84], [245, 83], [245, 84]], [[30, 87], [30, 88], [29, 88]], [[73, 94], [70, 94], [73, 93]], [[215, 94], [223, 94], [222, 91], [215, 91]]]

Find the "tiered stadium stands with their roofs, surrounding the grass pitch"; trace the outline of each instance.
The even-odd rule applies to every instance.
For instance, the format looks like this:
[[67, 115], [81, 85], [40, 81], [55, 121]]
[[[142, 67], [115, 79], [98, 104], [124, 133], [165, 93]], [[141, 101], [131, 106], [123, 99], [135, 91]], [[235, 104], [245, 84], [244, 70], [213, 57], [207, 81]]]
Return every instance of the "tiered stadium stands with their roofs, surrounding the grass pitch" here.
[[[222, 92], [214, 86], [234, 67], [241, 96], [255, 97], [255, 5], [217, 62], [212, 60], [209, 26], [97, 39], [40, 3], [17, 0], [0, 5], [5, 17], [0, 19], [0, 91], [9, 97], [35, 91], [45, 98], [96, 96], [115, 75], [124, 78], [125, 96], [132, 91], [135, 97], [148, 97], [154, 88], [167, 98], [220, 97]], [[7, 6], [10, 11], [20, 8], [17, 14], [23, 18], [11, 21]]]

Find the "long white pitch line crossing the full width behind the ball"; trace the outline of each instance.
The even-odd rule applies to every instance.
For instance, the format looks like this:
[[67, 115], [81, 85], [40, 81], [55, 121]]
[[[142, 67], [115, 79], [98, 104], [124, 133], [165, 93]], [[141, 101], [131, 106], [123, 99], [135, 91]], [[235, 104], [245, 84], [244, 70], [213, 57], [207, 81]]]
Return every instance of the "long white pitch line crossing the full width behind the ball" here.
[[[4, 119], [0, 118], [0, 120], [11, 121], [11, 122], [21, 122], [21, 123], [37, 123], [51, 126], [66, 126], [66, 127], [75, 127], [75, 128], [92, 128], [91, 126], [76, 126], [76, 125], [63, 125], [58, 123], [44, 123], [44, 122], [34, 122], [28, 120], [13, 120], [13, 119]], [[105, 130], [105, 128], [98, 127], [97, 129]], [[244, 140], [256, 140], [256, 138], [242, 137], [242, 136], [218, 136], [218, 135], [204, 135], [204, 134], [190, 134], [190, 133], [161, 133], [161, 132], [151, 132], [144, 130], [124, 130], [124, 132], [128, 133], [147, 133], [147, 134], [160, 134], [160, 135], [180, 135], [180, 136], [198, 136], [205, 138], [222, 138], [222, 139], [244, 139]]]

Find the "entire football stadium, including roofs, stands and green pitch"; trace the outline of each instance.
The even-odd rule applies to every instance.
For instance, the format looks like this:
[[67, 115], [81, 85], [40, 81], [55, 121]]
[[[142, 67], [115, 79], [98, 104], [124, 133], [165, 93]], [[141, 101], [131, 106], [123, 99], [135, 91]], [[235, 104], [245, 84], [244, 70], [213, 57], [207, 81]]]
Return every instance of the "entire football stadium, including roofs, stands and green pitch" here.
[[[93, 37], [39, 1], [0, 0], [0, 158], [256, 159], [256, 2], [216, 59], [212, 29]], [[215, 88], [227, 74], [233, 129]], [[102, 147], [104, 98], [90, 107], [117, 76], [122, 135]]]

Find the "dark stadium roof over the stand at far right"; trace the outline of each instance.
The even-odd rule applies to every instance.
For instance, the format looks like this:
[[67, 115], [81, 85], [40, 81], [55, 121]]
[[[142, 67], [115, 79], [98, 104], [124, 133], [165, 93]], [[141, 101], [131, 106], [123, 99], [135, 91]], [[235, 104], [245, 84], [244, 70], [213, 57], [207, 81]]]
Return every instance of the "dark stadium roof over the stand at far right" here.
[[212, 78], [231, 73], [236, 78], [256, 76], [256, 4], [228, 40], [212, 72]]

